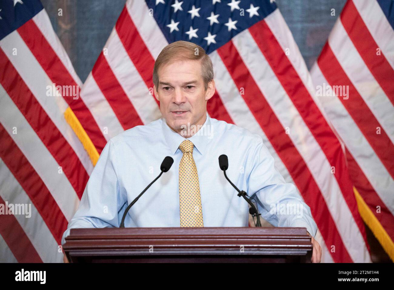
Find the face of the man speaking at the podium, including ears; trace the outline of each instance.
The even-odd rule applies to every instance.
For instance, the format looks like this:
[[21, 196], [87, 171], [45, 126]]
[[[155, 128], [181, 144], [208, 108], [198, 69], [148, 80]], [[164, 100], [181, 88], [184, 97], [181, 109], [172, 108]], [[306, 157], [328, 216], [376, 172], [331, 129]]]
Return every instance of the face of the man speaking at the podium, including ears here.
[[154, 93], [167, 124], [178, 133], [182, 125], [202, 125], [215, 83], [209, 82], [205, 90], [200, 61], [176, 60], [160, 67], [158, 75], [159, 86], [157, 91], [154, 86]]

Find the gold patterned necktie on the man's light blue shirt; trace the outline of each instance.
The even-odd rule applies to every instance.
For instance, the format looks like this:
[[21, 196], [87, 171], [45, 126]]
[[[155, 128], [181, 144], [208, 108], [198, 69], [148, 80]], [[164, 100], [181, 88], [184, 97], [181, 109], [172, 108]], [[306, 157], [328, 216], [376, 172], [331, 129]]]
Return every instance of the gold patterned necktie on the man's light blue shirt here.
[[200, 184], [193, 159], [193, 143], [184, 140], [179, 149], [183, 156], [179, 163], [179, 206], [181, 227], [203, 227]]

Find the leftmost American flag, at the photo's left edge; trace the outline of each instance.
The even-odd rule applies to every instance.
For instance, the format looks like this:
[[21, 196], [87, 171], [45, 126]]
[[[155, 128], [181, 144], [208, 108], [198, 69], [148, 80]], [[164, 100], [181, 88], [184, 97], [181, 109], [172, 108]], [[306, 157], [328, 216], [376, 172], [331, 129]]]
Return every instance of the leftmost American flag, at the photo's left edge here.
[[63, 260], [93, 165], [63, 116], [82, 100], [56, 86], [80, 85], [41, 2], [1, 1], [0, 262]]

